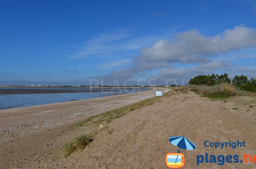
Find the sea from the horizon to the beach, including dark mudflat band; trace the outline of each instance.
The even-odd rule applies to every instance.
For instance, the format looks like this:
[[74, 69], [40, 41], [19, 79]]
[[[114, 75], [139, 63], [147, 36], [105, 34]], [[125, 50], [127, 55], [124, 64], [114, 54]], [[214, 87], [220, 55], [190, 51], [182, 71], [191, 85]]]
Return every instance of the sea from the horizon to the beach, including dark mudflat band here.
[[0, 88], [0, 109], [37, 106], [49, 103], [92, 99], [126, 93], [143, 92], [148, 88]]

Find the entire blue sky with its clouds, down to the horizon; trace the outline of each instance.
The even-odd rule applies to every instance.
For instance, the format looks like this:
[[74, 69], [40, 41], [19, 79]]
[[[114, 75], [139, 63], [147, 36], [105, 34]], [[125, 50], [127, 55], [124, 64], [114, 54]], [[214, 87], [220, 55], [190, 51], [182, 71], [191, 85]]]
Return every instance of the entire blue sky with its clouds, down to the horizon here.
[[256, 77], [255, 20], [255, 0], [1, 0], [0, 85]]

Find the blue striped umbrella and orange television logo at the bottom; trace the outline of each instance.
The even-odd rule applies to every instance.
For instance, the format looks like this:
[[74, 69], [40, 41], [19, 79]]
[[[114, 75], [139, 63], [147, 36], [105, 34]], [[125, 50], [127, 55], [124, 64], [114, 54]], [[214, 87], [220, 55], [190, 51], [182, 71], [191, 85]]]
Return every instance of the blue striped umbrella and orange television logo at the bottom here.
[[177, 153], [166, 153], [166, 166], [171, 169], [181, 168], [185, 165], [185, 157], [180, 153], [180, 149], [193, 150], [196, 146], [185, 136], [169, 137], [169, 141], [179, 149], [177, 149]]

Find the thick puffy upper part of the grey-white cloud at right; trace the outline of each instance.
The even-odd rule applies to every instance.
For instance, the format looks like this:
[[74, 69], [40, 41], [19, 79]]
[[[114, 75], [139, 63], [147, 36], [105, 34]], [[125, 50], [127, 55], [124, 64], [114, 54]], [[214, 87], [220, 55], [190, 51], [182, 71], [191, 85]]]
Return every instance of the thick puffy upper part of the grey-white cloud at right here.
[[207, 62], [209, 57], [256, 45], [254, 29], [236, 26], [221, 34], [205, 37], [192, 30], [175, 35], [175, 41], [160, 40], [141, 50], [138, 60], [181, 63]]

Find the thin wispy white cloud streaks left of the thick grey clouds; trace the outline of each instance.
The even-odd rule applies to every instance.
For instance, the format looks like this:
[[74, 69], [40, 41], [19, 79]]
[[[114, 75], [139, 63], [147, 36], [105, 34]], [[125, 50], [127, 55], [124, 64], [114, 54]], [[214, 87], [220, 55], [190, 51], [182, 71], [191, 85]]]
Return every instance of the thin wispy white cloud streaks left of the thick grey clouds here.
[[156, 40], [168, 36], [169, 34], [134, 38], [128, 30], [98, 34], [95, 38], [87, 40], [84, 47], [69, 58], [122, 57], [120, 53], [128, 55], [131, 51], [150, 46]]

